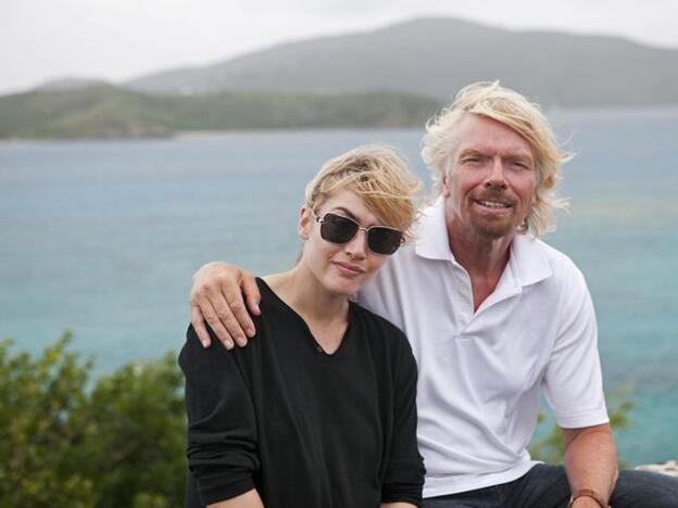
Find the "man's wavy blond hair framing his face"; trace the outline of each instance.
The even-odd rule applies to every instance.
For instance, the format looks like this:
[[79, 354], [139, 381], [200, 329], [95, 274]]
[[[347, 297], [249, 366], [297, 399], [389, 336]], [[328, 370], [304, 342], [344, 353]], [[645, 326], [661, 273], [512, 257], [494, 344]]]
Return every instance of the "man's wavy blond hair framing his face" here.
[[467, 113], [487, 116], [519, 134], [530, 145], [537, 172], [536, 198], [519, 232], [535, 237], [555, 229], [554, 212], [567, 206], [567, 200], [555, 193], [558, 170], [572, 156], [562, 152], [549, 122], [538, 104], [520, 93], [500, 86], [499, 81], [469, 85], [456, 94], [454, 102], [426, 124], [422, 157], [434, 170], [434, 193], [442, 191], [447, 175], [454, 181], [454, 155], [459, 144], [457, 127]]

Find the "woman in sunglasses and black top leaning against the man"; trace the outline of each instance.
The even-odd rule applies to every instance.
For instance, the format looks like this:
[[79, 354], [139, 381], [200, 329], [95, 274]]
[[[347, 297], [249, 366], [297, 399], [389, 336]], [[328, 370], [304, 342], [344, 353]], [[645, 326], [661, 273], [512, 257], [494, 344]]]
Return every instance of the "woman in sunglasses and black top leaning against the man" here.
[[189, 328], [187, 506], [420, 504], [414, 357], [349, 301], [406, 238], [418, 188], [389, 149], [330, 160], [306, 187], [299, 262], [256, 281], [248, 347], [204, 350]]

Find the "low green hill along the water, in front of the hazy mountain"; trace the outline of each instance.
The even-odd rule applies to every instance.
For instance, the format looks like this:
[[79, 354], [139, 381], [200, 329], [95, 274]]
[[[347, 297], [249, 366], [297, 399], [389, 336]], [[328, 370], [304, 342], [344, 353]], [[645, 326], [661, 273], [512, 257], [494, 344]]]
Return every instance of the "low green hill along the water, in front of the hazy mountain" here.
[[0, 138], [143, 138], [183, 130], [422, 126], [436, 100], [394, 92], [150, 96], [113, 86], [0, 97]]

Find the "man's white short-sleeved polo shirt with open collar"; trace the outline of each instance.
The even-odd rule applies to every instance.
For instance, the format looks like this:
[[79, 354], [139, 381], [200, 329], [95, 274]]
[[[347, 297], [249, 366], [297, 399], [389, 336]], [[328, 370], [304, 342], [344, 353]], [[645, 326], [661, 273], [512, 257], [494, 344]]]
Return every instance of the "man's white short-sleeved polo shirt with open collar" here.
[[563, 428], [608, 421], [583, 276], [539, 240], [516, 236], [497, 289], [474, 313], [439, 199], [424, 211], [418, 241], [395, 253], [359, 301], [399, 326], [417, 359], [425, 497], [525, 474], [536, 463], [527, 445], [541, 390]]

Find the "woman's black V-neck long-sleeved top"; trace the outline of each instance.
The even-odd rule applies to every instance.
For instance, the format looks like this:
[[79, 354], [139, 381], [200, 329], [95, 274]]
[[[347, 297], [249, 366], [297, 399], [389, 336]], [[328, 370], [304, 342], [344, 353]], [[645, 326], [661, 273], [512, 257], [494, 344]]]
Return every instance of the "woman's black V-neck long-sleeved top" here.
[[347, 332], [328, 355], [303, 319], [258, 284], [262, 314], [247, 347], [204, 350], [189, 328], [179, 356], [186, 506], [254, 487], [267, 508], [420, 505], [416, 364], [404, 334], [351, 303]]

